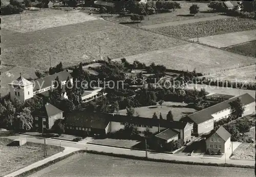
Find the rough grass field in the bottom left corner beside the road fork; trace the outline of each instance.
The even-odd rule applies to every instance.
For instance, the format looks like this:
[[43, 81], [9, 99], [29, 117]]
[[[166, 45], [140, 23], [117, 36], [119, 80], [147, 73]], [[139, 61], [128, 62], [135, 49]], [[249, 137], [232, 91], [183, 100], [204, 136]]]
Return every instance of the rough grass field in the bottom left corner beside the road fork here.
[[[7, 146], [12, 140], [1, 138], [1, 161], [0, 174], [6, 175], [20, 168], [24, 168], [39, 160], [44, 159], [44, 149], [42, 144], [27, 142], [23, 146]], [[47, 145], [47, 156], [61, 152], [64, 148]]]

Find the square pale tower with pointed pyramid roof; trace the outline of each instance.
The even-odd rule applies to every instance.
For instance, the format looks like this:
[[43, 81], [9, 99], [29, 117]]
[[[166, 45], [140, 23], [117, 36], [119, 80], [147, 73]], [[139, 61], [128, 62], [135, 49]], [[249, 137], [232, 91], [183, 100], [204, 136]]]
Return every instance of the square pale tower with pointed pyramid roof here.
[[10, 98], [14, 101], [15, 98], [23, 103], [33, 97], [33, 83], [22, 77], [20, 73], [19, 78], [9, 83]]

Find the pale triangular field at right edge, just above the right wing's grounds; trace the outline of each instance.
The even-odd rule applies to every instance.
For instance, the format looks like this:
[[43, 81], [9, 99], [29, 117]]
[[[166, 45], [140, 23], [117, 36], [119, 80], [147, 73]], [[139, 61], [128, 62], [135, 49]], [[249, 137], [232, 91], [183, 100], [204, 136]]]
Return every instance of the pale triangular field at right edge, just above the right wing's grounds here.
[[238, 69], [217, 72], [202, 77], [218, 79], [218, 80], [229, 80], [229, 81], [243, 81], [255, 83], [255, 64], [249, 65], [248, 67], [242, 67]]

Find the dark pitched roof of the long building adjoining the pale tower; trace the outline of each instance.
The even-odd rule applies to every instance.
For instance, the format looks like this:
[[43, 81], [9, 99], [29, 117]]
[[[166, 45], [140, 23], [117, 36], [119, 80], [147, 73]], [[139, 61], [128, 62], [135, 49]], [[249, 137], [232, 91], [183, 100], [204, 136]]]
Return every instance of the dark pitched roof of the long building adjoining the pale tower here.
[[40, 79], [35, 80], [35, 85], [34, 85], [34, 91], [37, 91], [40, 89], [44, 89], [46, 87], [49, 87], [52, 85], [52, 81], [54, 81], [56, 79], [56, 77], [58, 76], [59, 81], [66, 81], [68, 79], [68, 77], [71, 79], [72, 76], [68, 71], [61, 71], [59, 73], [55, 73], [53, 75], [49, 75]]

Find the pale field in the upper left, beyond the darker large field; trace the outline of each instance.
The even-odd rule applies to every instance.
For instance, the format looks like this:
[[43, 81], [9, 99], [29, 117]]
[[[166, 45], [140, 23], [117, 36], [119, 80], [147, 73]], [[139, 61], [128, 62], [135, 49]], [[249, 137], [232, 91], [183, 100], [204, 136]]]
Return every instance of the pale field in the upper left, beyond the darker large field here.
[[[47, 13], [46, 13], [47, 12]], [[83, 23], [84, 21], [96, 20], [98, 18], [78, 11], [25, 11], [24, 13], [2, 16], [1, 26], [3, 29], [26, 33], [47, 28], [61, 27]], [[20, 22], [21, 18], [21, 22]]]

